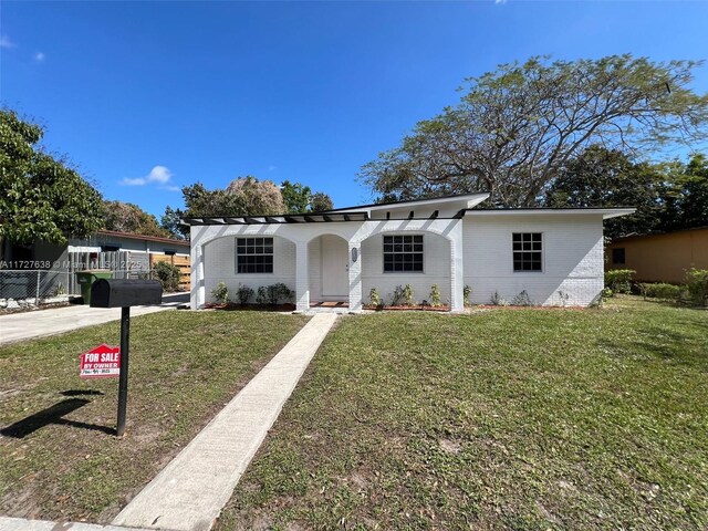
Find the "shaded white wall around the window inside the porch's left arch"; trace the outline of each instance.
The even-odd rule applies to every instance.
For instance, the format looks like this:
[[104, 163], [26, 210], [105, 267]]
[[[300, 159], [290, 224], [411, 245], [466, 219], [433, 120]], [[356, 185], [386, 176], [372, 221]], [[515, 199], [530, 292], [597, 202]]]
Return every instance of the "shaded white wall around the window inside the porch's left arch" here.
[[[291, 290], [295, 289], [295, 244], [284, 238], [273, 237], [273, 272], [272, 273], [236, 273], [236, 237], [225, 237], [205, 246], [205, 289], [207, 302], [212, 302], [211, 290], [219, 282], [225, 282], [229, 296], [237, 302], [236, 292], [239, 283], [248, 285], [256, 292], [259, 285], [282, 282]], [[256, 298], [256, 294], [253, 295]], [[254, 299], [251, 301], [254, 302]]]

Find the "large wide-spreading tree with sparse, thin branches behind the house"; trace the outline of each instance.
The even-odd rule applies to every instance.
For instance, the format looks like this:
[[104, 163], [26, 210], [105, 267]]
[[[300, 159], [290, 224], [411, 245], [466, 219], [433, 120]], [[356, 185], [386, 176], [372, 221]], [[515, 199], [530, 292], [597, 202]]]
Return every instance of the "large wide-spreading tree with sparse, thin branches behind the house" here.
[[534, 206], [593, 144], [636, 157], [706, 138], [708, 94], [695, 61], [531, 58], [466, 80], [458, 105], [419, 122], [360, 173], [383, 200], [486, 190], [497, 206]]

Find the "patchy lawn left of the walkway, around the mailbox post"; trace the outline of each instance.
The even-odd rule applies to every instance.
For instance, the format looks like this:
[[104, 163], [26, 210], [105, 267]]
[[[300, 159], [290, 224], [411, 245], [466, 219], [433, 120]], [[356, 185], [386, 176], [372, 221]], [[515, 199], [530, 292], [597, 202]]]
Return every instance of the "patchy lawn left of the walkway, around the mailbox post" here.
[[[79, 378], [82, 352], [118, 344], [117, 322], [1, 347], [0, 514], [110, 521], [305, 321], [262, 312], [133, 319], [122, 439], [111, 434], [117, 378]], [[10, 428], [58, 404], [81, 407], [23, 437]]]

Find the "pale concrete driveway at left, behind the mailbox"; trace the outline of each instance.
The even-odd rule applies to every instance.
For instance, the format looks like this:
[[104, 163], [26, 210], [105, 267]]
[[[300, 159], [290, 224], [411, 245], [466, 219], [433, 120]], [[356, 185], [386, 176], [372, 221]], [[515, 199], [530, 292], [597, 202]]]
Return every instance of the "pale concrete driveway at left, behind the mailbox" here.
[[[159, 306], [132, 308], [131, 316], [171, 310], [187, 302], [189, 302], [189, 293], [165, 295]], [[83, 304], [11, 313], [0, 316], [0, 345], [61, 334], [119, 319], [119, 308], [91, 308]]]

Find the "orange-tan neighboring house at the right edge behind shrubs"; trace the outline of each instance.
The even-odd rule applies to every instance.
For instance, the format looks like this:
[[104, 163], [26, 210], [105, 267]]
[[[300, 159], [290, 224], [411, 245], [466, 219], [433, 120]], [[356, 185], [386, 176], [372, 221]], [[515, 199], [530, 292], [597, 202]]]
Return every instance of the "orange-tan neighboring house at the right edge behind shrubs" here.
[[680, 283], [689, 269], [708, 269], [708, 227], [617, 238], [605, 253], [607, 269], [633, 269], [641, 282]]

